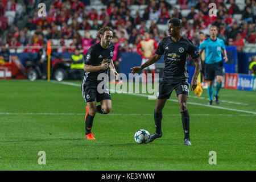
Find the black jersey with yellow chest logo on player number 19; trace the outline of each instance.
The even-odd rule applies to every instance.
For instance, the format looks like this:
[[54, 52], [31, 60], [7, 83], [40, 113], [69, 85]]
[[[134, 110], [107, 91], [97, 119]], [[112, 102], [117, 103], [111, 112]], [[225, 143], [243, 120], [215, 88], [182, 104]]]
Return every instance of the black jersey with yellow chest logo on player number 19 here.
[[155, 53], [164, 55], [163, 80], [182, 80], [186, 82], [188, 81], [188, 55], [191, 55], [192, 59], [200, 56], [191, 40], [183, 36], [178, 42], [174, 42], [171, 36], [163, 38]]

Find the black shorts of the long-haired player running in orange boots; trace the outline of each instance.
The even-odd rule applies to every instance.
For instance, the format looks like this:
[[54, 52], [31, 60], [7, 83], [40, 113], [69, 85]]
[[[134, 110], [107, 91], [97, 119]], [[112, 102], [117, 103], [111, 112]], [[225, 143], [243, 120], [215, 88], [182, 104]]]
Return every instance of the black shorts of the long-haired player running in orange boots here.
[[85, 102], [94, 102], [95, 99], [96, 102], [111, 100], [109, 89], [106, 86], [102, 86], [103, 93], [99, 93], [98, 85], [96, 83], [82, 82], [82, 97], [84, 97]]

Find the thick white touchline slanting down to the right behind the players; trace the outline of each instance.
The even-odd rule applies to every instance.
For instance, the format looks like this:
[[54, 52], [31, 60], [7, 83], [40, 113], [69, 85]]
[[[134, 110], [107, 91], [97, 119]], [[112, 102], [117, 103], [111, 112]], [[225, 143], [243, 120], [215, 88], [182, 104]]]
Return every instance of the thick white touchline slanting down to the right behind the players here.
[[[80, 84], [73, 84], [71, 82], [59, 82], [59, 81], [51, 81], [53, 83], [57, 83], [57, 84], [64, 84], [64, 85], [73, 85], [73, 86], [81, 86]], [[110, 92], [114, 92], [115, 90], [110, 90]], [[136, 94], [136, 93], [127, 93], [127, 92], [122, 92], [123, 94], [129, 94], [129, 95], [134, 95], [134, 96], [141, 96], [141, 97], [155, 97], [155, 96], [149, 96], [147, 94]], [[168, 99], [168, 101], [174, 101], [174, 102], [179, 102], [178, 100], [174, 100], [174, 99]], [[256, 112], [253, 111], [247, 111], [247, 110], [240, 110], [240, 109], [231, 109], [228, 107], [220, 107], [220, 106], [213, 106], [213, 105], [205, 105], [205, 104], [200, 104], [200, 103], [196, 103], [196, 102], [187, 102], [187, 104], [192, 104], [192, 105], [199, 105], [199, 106], [206, 106], [206, 107], [213, 107], [216, 109], [224, 109], [224, 110], [231, 110], [231, 111], [237, 111], [237, 112], [242, 112], [242, 113], [250, 113], [250, 114], [256, 114]]]

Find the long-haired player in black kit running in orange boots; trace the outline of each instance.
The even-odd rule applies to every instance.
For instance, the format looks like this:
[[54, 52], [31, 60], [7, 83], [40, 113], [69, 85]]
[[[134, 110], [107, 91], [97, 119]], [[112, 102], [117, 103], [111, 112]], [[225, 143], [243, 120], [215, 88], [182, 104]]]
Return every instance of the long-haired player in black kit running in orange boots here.
[[[95, 139], [92, 134], [93, 119], [97, 113], [108, 114], [112, 108], [111, 97], [108, 88], [102, 85], [108, 80], [104, 80], [98, 76], [105, 73], [108, 77], [108, 71], [113, 72], [118, 77], [117, 71], [113, 64], [114, 44], [111, 42], [113, 38], [113, 30], [111, 27], [102, 27], [97, 32], [97, 38], [101, 41], [89, 48], [84, 58], [84, 80], [82, 81], [82, 97], [87, 104], [85, 115], [85, 138]], [[101, 74], [102, 75], [102, 74]], [[100, 84], [101, 83], [101, 84]], [[105, 84], [106, 85], [106, 84]], [[102, 90], [104, 92], [99, 92]], [[96, 106], [96, 102], [100, 105]]]

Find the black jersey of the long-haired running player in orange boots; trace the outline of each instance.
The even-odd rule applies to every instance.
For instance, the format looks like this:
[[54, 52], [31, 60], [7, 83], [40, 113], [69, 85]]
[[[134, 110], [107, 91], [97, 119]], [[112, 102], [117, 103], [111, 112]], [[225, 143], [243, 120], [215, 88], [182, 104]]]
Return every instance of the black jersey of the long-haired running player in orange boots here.
[[[114, 44], [111, 43], [108, 48], [104, 49], [101, 47], [100, 42], [94, 44], [92, 47], [89, 48], [88, 52], [84, 57], [84, 64], [98, 66], [101, 65], [102, 61], [105, 60], [112, 60], [113, 52], [114, 52]], [[101, 80], [97, 80], [98, 75], [100, 73], [108, 74], [108, 70], [100, 70], [98, 72], [85, 72], [86, 82], [99, 82]]]

